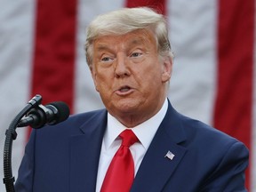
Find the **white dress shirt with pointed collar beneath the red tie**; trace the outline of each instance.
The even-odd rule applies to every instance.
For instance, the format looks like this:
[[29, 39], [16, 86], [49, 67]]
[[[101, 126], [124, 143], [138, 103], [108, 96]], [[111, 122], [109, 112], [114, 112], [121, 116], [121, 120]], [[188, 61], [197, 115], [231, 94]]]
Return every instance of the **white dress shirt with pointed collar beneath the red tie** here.
[[[166, 99], [164, 101], [163, 107], [157, 112], [155, 116], [152, 116], [147, 121], [132, 128], [132, 132], [134, 132], [134, 134], [140, 140], [140, 142], [136, 142], [130, 147], [135, 166], [135, 174], [138, 172], [140, 163], [145, 156], [146, 151], [148, 150], [148, 147], [153, 140], [159, 125], [164, 119], [167, 108], [168, 101]], [[107, 129], [103, 137], [100, 151], [100, 162], [96, 183], [97, 192], [100, 192], [100, 188], [108, 170], [108, 166], [113, 156], [115, 156], [117, 149], [121, 145], [122, 140], [118, 137], [118, 135], [125, 129], [127, 128], [124, 126], [124, 124], [121, 124], [116, 120], [114, 116], [111, 116], [108, 113]]]

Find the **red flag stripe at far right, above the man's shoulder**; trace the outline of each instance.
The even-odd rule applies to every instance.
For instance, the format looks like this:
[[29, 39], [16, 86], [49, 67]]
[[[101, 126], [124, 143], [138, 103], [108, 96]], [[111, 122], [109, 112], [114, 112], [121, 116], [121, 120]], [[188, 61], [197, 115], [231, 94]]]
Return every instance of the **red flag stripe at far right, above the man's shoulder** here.
[[[219, 6], [214, 126], [250, 148], [254, 0], [219, 1]], [[246, 186], [249, 187], [249, 170]]]

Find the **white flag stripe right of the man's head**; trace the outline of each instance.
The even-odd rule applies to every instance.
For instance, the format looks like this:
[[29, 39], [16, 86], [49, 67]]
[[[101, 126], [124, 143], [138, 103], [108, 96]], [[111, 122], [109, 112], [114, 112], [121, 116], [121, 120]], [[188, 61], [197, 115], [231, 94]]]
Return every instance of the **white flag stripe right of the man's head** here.
[[212, 124], [217, 1], [172, 0], [168, 9], [171, 45], [176, 55], [169, 98], [181, 113]]

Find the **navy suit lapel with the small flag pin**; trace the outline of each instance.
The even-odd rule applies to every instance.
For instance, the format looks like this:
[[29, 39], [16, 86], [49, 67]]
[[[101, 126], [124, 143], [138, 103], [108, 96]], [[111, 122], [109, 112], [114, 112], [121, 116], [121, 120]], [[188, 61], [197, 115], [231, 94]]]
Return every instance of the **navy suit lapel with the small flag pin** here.
[[[131, 191], [162, 191], [164, 184], [180, 163], [187, 149], [179, 145], [186, 140], [186, 136], [178, 116], [169, 102], [166, 116], [140, 164]], [[166, 156], [168, 151], [174, 157], [171, 153], [169, 157]], [[150, 183], [154, 185], [149, 185]]]

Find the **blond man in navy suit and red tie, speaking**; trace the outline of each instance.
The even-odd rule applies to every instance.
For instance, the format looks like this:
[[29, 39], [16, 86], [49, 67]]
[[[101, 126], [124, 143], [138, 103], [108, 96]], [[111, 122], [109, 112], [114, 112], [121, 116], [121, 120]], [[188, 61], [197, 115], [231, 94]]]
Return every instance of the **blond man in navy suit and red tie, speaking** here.
[[[85, 51], [106, 109], [33, 131], [18, 192], [246, 191], [244, 144], [180, 115], [166, 98], [172, 51], [163, 15], [148, 8], [100, 15]], [[124, 130], [132, 130], [131, 146]], [[124, 172], [119, 147], [132, 155]]]

